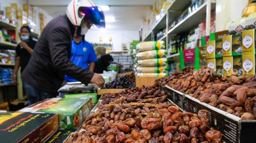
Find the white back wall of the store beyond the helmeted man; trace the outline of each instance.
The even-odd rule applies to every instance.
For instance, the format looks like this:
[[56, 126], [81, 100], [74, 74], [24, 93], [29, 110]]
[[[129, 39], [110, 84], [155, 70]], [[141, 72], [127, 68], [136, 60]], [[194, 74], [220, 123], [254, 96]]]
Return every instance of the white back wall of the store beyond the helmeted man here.
[[[87, 36], [88, 35], [88, 36]], [[85, 35], [85, 39], [89, 42], [99, 42], [100, 36], [102, 36], [103, 43], [109, 43], [109, 38], [111, 37], [113, 43], [113, 52], [122, 51], [122, 43], [132, 42], [133, 40], [139, 39], [138, 30], [105, 30], [100, 29], [88, 30]]]

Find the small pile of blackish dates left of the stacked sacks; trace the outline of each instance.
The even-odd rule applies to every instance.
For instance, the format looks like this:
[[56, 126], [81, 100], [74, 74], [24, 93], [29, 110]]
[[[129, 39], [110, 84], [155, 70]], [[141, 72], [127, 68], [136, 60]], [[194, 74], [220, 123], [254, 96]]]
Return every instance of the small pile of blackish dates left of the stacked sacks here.
[[133, 80], [132, 78], [133, 78], [132, 75], [124, 75], [122, 77], [114, 79], [111, 82], [107, 82], [103, 88], [107, 88], [107, 89], [134, 88], [135, 80]]

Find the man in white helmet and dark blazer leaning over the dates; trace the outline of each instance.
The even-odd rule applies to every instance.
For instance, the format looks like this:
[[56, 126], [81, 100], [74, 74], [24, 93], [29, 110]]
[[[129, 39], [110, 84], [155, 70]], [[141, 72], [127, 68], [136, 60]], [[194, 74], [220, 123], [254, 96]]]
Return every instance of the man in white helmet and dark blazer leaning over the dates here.
[[76, 66], [69, 57], [71, 41], [76, 34], [85, 35], [91, 25], [105, 28], [103, 11], [91, 0], [72, 0], [65, 15], [51, 20], [42, 31], [22, 80], [38, 90], [39, 100], [56, 97], [64, 75], [103, 86], [101, 75]]

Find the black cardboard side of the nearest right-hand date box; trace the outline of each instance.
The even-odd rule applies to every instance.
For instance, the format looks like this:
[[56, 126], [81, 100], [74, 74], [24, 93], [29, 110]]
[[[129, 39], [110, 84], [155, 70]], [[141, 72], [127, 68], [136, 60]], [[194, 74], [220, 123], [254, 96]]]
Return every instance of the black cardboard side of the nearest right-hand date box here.
[[210, 126], [222, 132], [226, 143], [255, 143], [256, 120], [241, 120], [238, 116], [184, 95], [184, 111], [197, 114], [202, 109], [208, 111]]

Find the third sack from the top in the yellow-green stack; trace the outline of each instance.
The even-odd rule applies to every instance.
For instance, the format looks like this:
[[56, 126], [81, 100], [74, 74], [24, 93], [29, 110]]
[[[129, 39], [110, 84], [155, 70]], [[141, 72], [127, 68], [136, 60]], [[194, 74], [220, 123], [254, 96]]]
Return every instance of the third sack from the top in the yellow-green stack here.
[[138, 60], [138, 66], [166, 66], [168, 63], [168, 59], [166, 58], [155, 58], [155, 59], [143, 59]]

